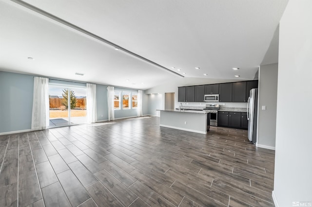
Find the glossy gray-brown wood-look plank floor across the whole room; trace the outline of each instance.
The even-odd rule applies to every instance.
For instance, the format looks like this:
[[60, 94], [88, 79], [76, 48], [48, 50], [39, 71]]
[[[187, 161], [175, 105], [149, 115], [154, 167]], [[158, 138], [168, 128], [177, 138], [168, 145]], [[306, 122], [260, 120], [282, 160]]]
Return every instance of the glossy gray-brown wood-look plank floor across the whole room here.
[[0, 206], [274, 206], [274, 151], [158, 117], [0, 136]]

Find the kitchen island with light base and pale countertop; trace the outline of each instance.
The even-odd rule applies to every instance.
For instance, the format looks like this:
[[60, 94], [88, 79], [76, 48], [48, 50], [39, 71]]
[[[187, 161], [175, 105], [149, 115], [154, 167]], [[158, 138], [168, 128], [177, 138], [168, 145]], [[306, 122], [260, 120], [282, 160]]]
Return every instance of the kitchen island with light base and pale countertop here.
[[160, 126], [200, 134], [207, 134], [210, 128], [209, 112], [197, 110], [157, 110], [160, 111]]

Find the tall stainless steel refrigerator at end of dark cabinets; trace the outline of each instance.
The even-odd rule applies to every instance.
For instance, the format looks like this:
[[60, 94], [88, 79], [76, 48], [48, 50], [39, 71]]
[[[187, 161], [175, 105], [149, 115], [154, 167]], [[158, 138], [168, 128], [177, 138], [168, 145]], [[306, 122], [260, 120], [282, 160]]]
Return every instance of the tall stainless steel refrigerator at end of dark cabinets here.
[[255, 143], [257, 141], [257, 111], [258, 111], [258, 88], [249, 92], [247, 104], [248, 139]]

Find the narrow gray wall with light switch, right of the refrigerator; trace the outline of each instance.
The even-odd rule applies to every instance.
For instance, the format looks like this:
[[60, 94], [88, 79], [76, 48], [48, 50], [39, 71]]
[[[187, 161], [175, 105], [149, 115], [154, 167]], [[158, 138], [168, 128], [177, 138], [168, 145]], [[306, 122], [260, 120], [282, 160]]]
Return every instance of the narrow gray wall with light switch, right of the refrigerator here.
[[[258, 86], [257, 145], [275, 148], [278, 64], [260, 66]], [[266, 110], [262, 110], [266, 106]]]

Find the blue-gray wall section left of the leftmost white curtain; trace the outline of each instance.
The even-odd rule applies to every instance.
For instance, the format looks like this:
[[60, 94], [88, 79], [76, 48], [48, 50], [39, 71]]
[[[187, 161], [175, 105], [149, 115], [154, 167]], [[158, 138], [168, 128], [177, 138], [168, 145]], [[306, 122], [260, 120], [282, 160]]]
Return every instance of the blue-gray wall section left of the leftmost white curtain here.
[[34, 76], [0, 71], [0, 133], [31, 129]]

